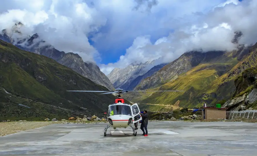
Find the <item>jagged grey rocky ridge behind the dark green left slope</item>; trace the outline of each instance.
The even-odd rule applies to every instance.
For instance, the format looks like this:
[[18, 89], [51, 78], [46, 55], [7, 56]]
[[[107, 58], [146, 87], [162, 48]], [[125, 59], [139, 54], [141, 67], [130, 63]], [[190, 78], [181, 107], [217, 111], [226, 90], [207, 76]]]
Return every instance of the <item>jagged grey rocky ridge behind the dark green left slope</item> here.
[[0, 39], [12, 43], [22, 50], [52, 58], [58, 63], [63, 64], [77, 73], [91, 79], [93, 82], [105, 86], [109, 90], [114, 89], [111, 81], [100, 71], [100, 68], [95, 63], [85, 63], [78, 54], [65, 53], [63, 51], [56, 50], [53, 46], [42, 41], [38, 34], [34, 34], [28, 38], [19, 38], [18, 40], [12, 39], [12, 37], [10, 37], [12, 33], [20, 34], [19, 25], [22, 24], [16, 24], [15, 27], [12, 28], [11, 33], [8, 33], [7, 30], [3, 30], [2, 34], [0, 34]]

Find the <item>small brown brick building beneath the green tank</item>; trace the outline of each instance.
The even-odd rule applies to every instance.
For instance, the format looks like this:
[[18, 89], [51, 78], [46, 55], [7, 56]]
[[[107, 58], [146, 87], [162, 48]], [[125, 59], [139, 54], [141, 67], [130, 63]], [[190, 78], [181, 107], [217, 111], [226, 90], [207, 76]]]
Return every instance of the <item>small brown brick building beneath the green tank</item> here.
[[226, 119], [226, 108], [202, 107], [202, 119]]

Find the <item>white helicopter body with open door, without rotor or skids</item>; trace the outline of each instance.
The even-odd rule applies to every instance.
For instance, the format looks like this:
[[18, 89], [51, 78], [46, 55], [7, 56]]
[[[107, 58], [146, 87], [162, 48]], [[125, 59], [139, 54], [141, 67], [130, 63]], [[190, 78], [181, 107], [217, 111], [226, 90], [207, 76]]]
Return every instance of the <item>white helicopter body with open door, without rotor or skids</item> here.
[[[111, 111], [113, 111], [113, 115]], [[129, 105], [119, 102], [109, 105], [107, 122], [110, 127], [126, 128], [140, 120], [142, 120], [142, 117], [139, 114], [139, 107], [136, 103]]]

